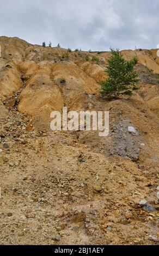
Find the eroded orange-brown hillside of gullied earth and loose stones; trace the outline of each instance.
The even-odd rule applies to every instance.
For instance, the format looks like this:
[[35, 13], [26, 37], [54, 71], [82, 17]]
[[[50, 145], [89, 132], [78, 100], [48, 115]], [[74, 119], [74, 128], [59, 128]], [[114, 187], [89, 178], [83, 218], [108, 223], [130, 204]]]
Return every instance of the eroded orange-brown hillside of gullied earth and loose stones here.
[[[109, 52], [66, 58], [63, 48], [5, 36], [0, 45], [0, 243], [158, 244], [156, 50], [123, 51], [138, 57], [140, 83], [110, 100], [99, 93]], [[63, 106], [109, 111], [109, 136], [52, 132], [50, 113]]]

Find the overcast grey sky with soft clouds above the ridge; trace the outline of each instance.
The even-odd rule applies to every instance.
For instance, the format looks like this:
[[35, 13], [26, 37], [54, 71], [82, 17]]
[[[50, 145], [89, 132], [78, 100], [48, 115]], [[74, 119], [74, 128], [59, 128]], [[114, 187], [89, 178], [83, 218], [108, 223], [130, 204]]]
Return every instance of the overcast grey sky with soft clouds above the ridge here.
[[0, 0], [0, 35], [106, 51], [156, 48], [158, 0]]

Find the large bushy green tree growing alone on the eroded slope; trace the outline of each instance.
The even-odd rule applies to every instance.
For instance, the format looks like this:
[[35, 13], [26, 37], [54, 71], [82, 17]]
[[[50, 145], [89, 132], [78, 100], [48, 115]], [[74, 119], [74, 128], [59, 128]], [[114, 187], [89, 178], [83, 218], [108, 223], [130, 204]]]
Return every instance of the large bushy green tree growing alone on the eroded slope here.
[[111, 57], [108, 59], [106, 74], [108, 78], [101, 82], [101, 94], [113, 96], [131, 95], [132, 87], [138, 82], [138, 73], [134, 70], [134, 65], [138, 62], [137, 57], [126, 60], [119, 49], [111, 48]]

